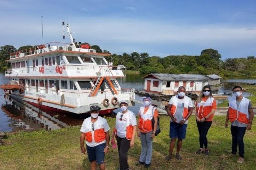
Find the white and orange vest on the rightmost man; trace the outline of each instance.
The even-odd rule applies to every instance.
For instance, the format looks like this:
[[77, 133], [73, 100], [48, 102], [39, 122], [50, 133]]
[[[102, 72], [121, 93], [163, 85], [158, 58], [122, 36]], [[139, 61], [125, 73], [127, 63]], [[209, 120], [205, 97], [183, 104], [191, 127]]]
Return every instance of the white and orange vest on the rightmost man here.
[[228, 111], [229, 111], [230, 122], [234, 122], [237, 120], [240, 123], [244, 123], [244, 124], [249, 123], [249, 112], [248, 112], [249, 102], [250, 102], [249, 99], [243, 97], [239, 106], [237, 107], [235, 97], [232, 97], [229, 100]]

